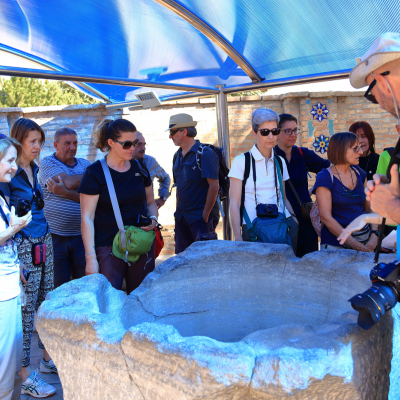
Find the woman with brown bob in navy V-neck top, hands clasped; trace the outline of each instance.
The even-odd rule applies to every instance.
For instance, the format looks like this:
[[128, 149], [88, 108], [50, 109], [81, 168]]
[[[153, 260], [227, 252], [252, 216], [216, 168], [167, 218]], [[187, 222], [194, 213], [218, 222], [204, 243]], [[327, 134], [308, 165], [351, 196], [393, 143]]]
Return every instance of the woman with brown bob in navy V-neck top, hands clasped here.
[[328, 159], [332, 165], [317, 175], [314, 185], [323, 224], [321, 250], [344, 247], [372, 252], [378, 243], [376, 225], [365, 225], [361, 231], [347, 238], [343, 246], [337, 240], [351, 221], [371, 212], [364, 193], [367, 174], [358, 166], [362, 153], [354, 133], [336, 133], [329, 140]]

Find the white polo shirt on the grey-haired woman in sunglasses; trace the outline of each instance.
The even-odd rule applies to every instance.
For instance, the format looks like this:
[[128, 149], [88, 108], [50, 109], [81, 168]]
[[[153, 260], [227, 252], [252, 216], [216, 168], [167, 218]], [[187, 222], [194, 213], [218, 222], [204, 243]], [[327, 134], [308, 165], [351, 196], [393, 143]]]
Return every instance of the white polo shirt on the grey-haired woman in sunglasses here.
[[[266, 163], [265, 157], [260, 153], [257, 149], [256, 145], [254, 145], [250, 150], [251, 155], [254, 157], [255, 166], [256, 166], [256, 195], [257, 195], [257, 204], [276, 204], [276, 189], [275, 189], [275, 175], [274, 175], [274, 150], [271, 150], [271, 158], [268, 159]], [[278, 156], [279, 157], [279, 156]], [[287, 181], [289, 179], [289, 173], [287, 171], [287, 166], [285, 160], [280, 157], [282, 160], [283, 166], [283, 174], [282, 181]], [[267, 164], [267, 168], [265, 167]], [[244, 167], [245, 167], [245, 157], [244, 154], [240, 154], [237, 156], [232, 163], [232, 168], [229, 171], [230, 178], [236, 178], [243, 181], [244, 177]], [[279, 165], [276, 166], [279, 168]], [[277, 175], [278, 179], [278, 175]], [[279, 212], [284, 211], [283, 204], [283, 193], [281, 193], [279, 187], [278, 180], [278, 191], [279, 191]], [[246, 208], [247, 214], [251, 221], [257, 217], [256, 214], [256, 203], [254, 200], [254, 181], [253, 181], [253, 166], [250, 159], [250, 175], [247, 179], [245, 186], [245, 198], [244, 198], [244, 206]], [[243, 218], [243, 222], [245, 220]]]

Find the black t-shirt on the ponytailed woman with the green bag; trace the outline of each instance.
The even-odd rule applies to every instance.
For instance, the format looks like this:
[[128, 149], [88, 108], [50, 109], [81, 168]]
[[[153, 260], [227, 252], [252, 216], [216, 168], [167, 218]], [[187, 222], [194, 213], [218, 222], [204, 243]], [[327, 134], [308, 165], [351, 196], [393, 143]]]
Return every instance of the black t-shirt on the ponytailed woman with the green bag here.
[[[151, 179], [144, 163], [141, 163], [141, 166], [147, 172], [147, 177], [141, 173], [135, 160], [131, 160], [131, 168], [126, 172], [110, 168], [124, 225], [135, 223], [139, 214], [146, 215], [145, 187], [151, 186]], [[100, 195], [94, 215], [94, 243], [96, 247], [112, 246], [118, 226], [99, 160], [86, 168], [78, 192]]]

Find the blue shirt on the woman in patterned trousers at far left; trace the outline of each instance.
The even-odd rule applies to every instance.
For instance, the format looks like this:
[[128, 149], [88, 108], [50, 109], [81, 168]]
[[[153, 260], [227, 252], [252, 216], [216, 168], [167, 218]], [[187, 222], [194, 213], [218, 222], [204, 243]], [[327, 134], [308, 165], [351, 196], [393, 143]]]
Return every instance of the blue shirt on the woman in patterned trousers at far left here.
[[[28, 175], [26, 172], [21, 168], [18, 167], [17, 172], [15, 173], [14, 177], [11, 179], [10, 183], [0, 183], [0, 190], [10, 199], [10, 207], [15, 206], [15, 199], [24, 199], [31, 202], [32, 205], [32, 221], [22, 229], [23, 233], [26, 236], [31, 235], [32, 238], [38, 238], [45, 236], [48, 230], [47, 222], [44, 217], [44, 210], [38, 210], [37, 208], [37, 201], [33, 198], [33, 189], [37, 189], [40, 191], [41, 196], [43, 198], [42, 188], [38, 182], [38, 172], [39, 167], [32, 161], [31, 162], [32, 172], [33, 172], [33, 187], [29, 182]], [[17, 213], [17, 210], [15, 210]], [[21, 231], [19, 231], [16, 237], [20, 237]]]

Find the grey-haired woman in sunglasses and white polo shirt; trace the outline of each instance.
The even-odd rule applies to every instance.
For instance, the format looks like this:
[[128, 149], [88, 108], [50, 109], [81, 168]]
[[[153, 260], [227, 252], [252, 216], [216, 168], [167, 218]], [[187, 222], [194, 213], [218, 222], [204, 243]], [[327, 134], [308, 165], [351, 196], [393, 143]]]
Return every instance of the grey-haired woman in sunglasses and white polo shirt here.
[[[283, 193], [279, 188], [279, 183], [275, 180], [275, 168], [280, 168], [279, 162], [275, 163], [274, 147], [279, 135], [279, 117], [275, 111], [266, 108], [259, 108], [252, 115], [252, 135], [256, 141], [250, 150], [251, 158], [254, 159], [256, 182], [253, 179], [253, 167], [250, 163], [250, 174], [245, 184], [244, 190], [244, 208], [249, 216], [250, 221], [254, 221], [257, 217], [257, 204], [276, 204], [278, 212], [284, 213], [285, 208], [292, 214], [294, 220], [292, 223], [297, 223], [294, 217], [293, 209], [288, 202], [285, 194], [285, 186], [283, 185]], [[282, 161], [282, 181], [289, 179], [286, 163]], [[230, 177], [230, 212], [232, 219], [232, 230], [235, 240], [251, 241], [246, 228], [246, 220], [243, 216], [242, 203], [242, 182], [245, 172], [245, 154], [237, 156], [232, 163], [232, 168], [229, 172]], [[278, 186], [278, 188], [277, 188]], [[279, 203], [279, 204], [278, 204]], [[287, 213], [286, 213], [287, 214]], [[287, 215], [290, 217], [290, 214]], [[241, 229], [242, 226], [242, 229]], [[292, 244], [294, 235], [291, 235]]]

